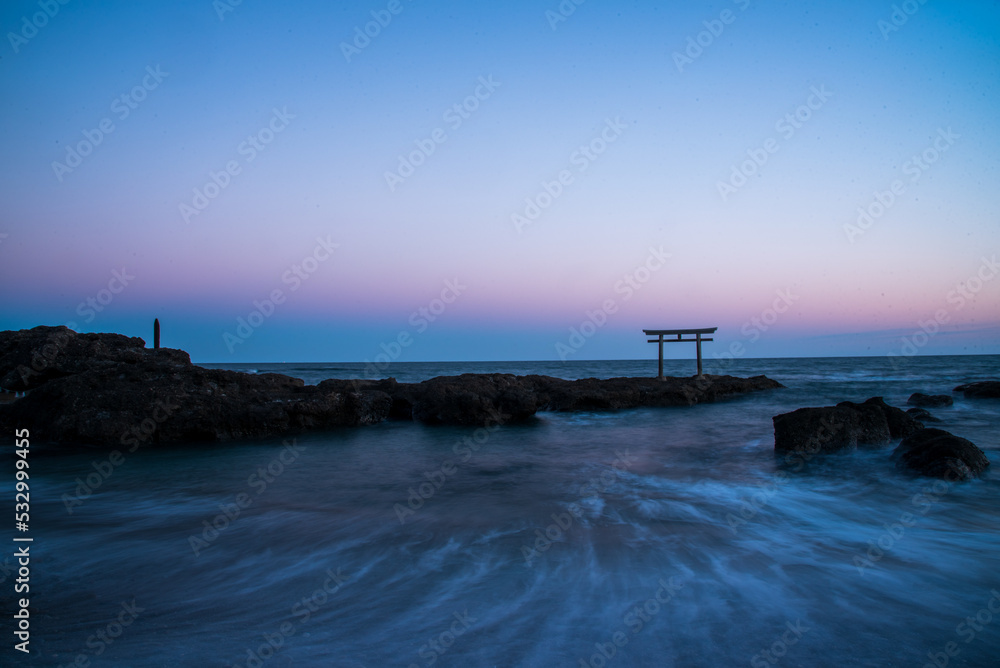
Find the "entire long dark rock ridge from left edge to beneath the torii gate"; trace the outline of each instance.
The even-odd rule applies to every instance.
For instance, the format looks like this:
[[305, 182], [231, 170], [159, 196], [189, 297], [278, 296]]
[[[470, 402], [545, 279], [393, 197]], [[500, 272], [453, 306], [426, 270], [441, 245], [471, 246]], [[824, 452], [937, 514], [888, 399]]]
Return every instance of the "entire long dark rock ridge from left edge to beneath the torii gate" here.
[[408, 419], [487, 425], [537, 411], [690, 406], [782, 387], [764, 376], [611, 378], [463, 374], [422, 383], [326, 380], [205, 369], [181, 350], [137, 337], [66, 327], [0, 332], [0, 387], [26, 392], [0, 404], [0, 428], [33, 439], [129, 446], [227, 441]]

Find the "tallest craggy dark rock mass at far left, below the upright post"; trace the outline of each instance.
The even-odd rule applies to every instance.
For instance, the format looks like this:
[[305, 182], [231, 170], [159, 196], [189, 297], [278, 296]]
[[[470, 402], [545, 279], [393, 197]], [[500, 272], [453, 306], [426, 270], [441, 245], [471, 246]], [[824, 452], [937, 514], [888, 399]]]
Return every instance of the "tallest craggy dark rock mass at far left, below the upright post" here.
[[204, 369], [183, 351], [144, 345], [65, 327], [0, 333], [6, 387], [29, 390], [0, 406], [0, 425], [30, 425], [39, 441], [132, 446], [275, 436], [389, 414], [382, 392], [336, 394], [280, 374]]

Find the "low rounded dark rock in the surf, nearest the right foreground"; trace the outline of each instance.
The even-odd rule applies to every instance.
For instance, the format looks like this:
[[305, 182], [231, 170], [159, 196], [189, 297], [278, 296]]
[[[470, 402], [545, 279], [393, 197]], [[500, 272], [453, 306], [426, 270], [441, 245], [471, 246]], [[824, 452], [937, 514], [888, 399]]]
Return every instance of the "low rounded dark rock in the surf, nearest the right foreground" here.
[[900, 468], [949, 481], [969, 480], [990, 465], [974, 443], [942, 429], [921, 429], [907, 436], [892, 456]]

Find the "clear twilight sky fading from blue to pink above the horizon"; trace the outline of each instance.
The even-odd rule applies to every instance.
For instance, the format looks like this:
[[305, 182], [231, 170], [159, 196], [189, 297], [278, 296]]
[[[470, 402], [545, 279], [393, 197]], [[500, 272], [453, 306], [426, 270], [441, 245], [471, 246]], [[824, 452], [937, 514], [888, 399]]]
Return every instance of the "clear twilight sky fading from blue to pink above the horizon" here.
[[5, 2], [0, 329], [159, 317], [203, 362], [643, 358], [643, 328], [713, 326], [709, 356], [922, 326], [916, 353], [1000, 353], [1000, 4], [676, 4]]

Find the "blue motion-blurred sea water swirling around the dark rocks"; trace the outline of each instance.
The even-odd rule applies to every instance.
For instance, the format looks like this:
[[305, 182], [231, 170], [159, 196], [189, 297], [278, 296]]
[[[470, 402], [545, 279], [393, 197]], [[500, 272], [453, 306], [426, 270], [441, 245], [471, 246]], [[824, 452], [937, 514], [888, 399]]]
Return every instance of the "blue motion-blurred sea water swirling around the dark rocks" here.
[[[381, 375], [493, 371], [652, 375], [655, 361]], [[963, 484], [897, 471], [892, 446], [789, 466], [771, 422], [802, 406], [947, 394], [1000, 376], [1000, 357], [708, 360], [706, 372], [787, 388], [492, 430], [387, 422], [294, 443], [150, 446], [107, 476], [96, 473], [106, 453], [36, 446], [33, 656], [8, 633], [0, 664], [1000, 665], [1000, 401], [955, 394], [931, 409], [994, 462]], [[99, 482], [73, 505], [88, 475]]]

